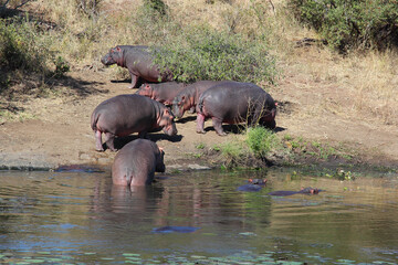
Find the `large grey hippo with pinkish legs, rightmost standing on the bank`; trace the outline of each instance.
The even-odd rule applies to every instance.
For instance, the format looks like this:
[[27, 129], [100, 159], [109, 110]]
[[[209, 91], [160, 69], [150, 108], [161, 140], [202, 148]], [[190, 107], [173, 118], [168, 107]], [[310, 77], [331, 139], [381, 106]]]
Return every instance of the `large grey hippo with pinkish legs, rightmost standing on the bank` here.
[[196, 110], [198, 134], [205, 134], [205, 120], [209, 117], [220, 136], [227, 135], [222, 123], [247, 121], [250, 126], [259, 123], [270, 129], [276, 126], [274, 99], [252, 83], [228, 81], [214, 85], [200, 95]]

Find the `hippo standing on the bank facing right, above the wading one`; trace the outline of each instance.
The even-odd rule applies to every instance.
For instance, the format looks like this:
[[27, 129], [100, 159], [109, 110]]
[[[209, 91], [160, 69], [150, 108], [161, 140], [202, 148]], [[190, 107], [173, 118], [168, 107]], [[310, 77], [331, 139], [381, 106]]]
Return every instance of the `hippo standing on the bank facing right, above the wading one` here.
[[171, 110], [149, 97], [129, 94], [118, 95], [101, 103], [91, 116], [91, 127], [96, 138], [96, 150], [104, 151], [102, 134], [106, 146], [115, 151], [115, 136], [138, 132], [145, 138], [150, 130], [163, 128], [168, 136], [177, 134]]

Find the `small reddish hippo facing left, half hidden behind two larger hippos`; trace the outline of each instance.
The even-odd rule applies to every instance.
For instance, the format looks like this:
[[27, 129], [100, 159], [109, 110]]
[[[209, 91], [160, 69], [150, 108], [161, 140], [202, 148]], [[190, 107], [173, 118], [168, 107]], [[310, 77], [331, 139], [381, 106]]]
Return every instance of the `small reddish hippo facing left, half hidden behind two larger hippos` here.
[[187, 84], [177, 82], [165, 82], [158, 84], [143, 84], [136, 94], [150, 97], [165, 105], [171, 105], [172, 99], [180, 93]]

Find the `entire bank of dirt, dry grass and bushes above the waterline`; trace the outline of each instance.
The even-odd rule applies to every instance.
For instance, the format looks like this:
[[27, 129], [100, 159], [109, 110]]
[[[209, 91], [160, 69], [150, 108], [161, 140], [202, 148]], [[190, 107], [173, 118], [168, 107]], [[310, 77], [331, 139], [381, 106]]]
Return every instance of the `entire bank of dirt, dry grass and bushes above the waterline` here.
[[127, 68], [106, 67], [101, 59], [117, 45], [145, 45], [176, 82], [252, 83], [277, 103], [273, 130], [243, 124], [218, 130], [208, 120], [199, 135], [198, 113], [186, 112], [175, 119], [177, 135], [149, 132], [165, 150], [166, 173], [272, 166], [326, 168], [336, 178], [354, 169], [396, 173], [398, 31], [390, 11], [398, 7], [369, 4], [353, 7], [345, 24], [339, 3], [325, 13], [295, 0], [7, 1], [0, 8], [0, 169], [109, 170], [116, 153], [95, 150], [90, 116], [145, 80], [135, 84]]

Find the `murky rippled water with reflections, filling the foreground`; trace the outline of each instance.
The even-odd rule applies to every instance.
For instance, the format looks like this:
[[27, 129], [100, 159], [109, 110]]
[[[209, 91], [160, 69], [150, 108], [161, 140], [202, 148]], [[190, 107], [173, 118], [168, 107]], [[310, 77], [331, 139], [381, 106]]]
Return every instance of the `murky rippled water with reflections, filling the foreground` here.
[[[259, 192], [237, 191], [265, 177]], [[268, 194], [302, 187], [324, 191]], [[397, 190], [396, 177], [291, 180], [281, 170], [190, 172], [132, 191], [108, 172], [3, 171], [0, 262], [395, 264]]]

